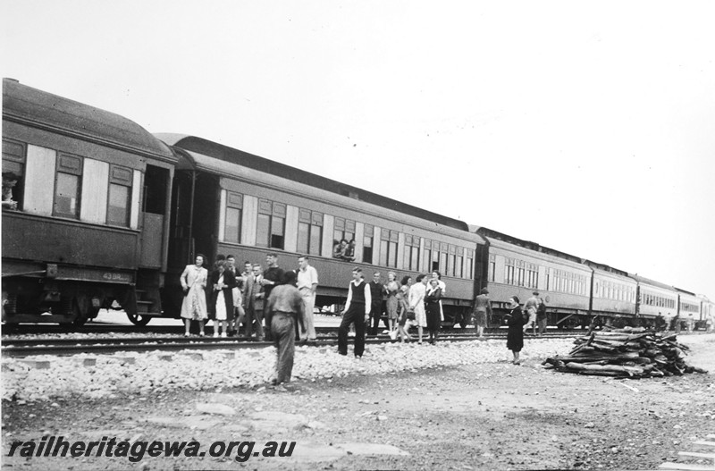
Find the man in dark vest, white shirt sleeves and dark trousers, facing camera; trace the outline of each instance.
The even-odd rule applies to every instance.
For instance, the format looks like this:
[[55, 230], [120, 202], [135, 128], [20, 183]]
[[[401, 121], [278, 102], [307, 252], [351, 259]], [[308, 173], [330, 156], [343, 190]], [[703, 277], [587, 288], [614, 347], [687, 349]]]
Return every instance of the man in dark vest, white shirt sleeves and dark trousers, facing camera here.
[[355, 324], [355, 357], [361, 358], [365, 352], [365, 323], [370, 318], [370, 286], [363, 280], [359, 267], [352, 270], [352, 281], [348, 286], [348, 300], [342, 312], [342, 322], [338, 329], [338, 353], [348, 355], [348, 329]]

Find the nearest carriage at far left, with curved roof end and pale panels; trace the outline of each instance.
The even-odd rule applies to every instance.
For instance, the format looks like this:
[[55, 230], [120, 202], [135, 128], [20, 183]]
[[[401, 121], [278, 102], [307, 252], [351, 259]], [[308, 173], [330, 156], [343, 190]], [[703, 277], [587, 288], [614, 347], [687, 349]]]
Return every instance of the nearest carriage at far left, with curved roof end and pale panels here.
[[175, 162], [135, 122], [4, 79], [4, 322], [160, 312]]

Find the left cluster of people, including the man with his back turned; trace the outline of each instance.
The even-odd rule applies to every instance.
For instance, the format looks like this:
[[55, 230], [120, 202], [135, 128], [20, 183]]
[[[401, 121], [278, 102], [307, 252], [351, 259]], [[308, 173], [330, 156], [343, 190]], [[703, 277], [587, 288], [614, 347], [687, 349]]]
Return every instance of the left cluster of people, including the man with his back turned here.
[[255, 330], [257, 341], [273, 341], [278, 357], [272, 382], [280, 385], [290, 381], [296, 338], [316, 339], [313, 307], [318, 276], [305, 256], [299, 257], [295, 271], [283, 271], [274, 253], [265, 262], [267, 268], [262, 270], [247, 261], [239, 273], [235, 257], [218, 255], [209, 273], [206, 257], [198, 254], [194, 265], [181, 273], [181, 318], [187, 337], [192, 321], [198, 322], [199, 335], [204, 336], [204, 324], [211, 318], [214, 337], [237, 335], [243, 326], [249, 339]]

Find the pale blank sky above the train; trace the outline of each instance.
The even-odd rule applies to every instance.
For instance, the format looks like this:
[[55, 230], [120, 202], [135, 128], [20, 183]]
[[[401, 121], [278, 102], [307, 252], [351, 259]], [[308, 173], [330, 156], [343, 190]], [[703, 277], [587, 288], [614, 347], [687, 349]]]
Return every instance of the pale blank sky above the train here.
[[713, 13], [2, 0], [0, 72], [715, 299]]

